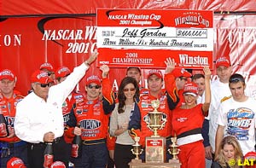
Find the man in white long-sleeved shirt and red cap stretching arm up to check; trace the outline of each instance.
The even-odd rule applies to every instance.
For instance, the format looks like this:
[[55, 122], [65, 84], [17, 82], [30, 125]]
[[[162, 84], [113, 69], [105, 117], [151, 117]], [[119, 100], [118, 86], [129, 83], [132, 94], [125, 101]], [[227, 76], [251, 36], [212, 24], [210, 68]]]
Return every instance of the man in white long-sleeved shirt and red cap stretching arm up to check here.
[[54, 161], [61, 160], [68, 165], [62, 155], [59, 143], [64, 143], [64, 119], [62, 104], [72, 92], [79, 80], [84, 77], [90, 64], [96, 60], [97, 51], [87, 61], [75, 67], [61, 84], [51, 86], [52, 79], [48, 73], [38, 70], [32, 73], [32, 93], [17, 106], [15, 116], [15, 133], [28, 144], [28, 163], [30, 167], [43, 167], [45, 143], [52, 143]]

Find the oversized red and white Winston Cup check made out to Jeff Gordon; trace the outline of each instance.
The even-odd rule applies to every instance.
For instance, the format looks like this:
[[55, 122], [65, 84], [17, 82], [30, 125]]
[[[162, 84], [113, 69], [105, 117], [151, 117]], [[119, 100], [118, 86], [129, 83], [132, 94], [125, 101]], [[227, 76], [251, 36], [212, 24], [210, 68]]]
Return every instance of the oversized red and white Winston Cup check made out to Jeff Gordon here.
[[209, 10], [97, 9], [98, 66], [212, 68]]

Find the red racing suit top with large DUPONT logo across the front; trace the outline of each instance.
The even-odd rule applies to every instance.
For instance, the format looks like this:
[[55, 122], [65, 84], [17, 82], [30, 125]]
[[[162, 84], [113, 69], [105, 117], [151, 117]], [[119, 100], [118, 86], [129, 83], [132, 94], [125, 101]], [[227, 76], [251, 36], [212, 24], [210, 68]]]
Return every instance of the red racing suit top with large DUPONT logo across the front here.
[[106, 139], [108, 136], [109, 115], [114, 108], [113, 92], [108, 78], [102, 79], [102, 98], [75, 103], [70, 120], [67, 122], [67, 135], [73, 135], [73, 129], [80, 124], [81, 138], [84, 141]]

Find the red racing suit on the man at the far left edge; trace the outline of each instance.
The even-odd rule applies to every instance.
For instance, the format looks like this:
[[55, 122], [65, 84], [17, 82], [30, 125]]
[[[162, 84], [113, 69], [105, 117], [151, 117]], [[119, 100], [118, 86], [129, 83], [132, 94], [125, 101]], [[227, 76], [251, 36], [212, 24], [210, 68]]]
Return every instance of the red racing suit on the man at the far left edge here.
[[[24, 96], [21, 96], [17, 90], [14, 90], [13, 96], [9, 99], [0, 93], [0, 108], [7, 121], [9, 130], [14, 130], [16, 106], [23, 98]], [[0, 142], [20, 142], [20, 139], [17, 136], [11, 138], [2, 137], [0, 138]]]

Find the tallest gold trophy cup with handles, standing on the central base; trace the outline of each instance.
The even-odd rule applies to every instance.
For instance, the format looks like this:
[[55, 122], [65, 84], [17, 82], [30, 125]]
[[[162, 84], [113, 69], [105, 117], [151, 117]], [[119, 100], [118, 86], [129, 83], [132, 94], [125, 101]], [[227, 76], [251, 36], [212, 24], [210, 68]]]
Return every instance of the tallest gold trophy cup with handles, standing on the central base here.
[[148, 129], [154, 132], [153, 137], [159, 137], [157, 130], [162, 129], [167, 121], [166, 119], [163, 119], [163, 113], [157, 111], [159, 105], [159, 100], [151, 101], [151, 106], [154, 107], [154, 111], [148, 113], [149, 119], [146, 121]]

